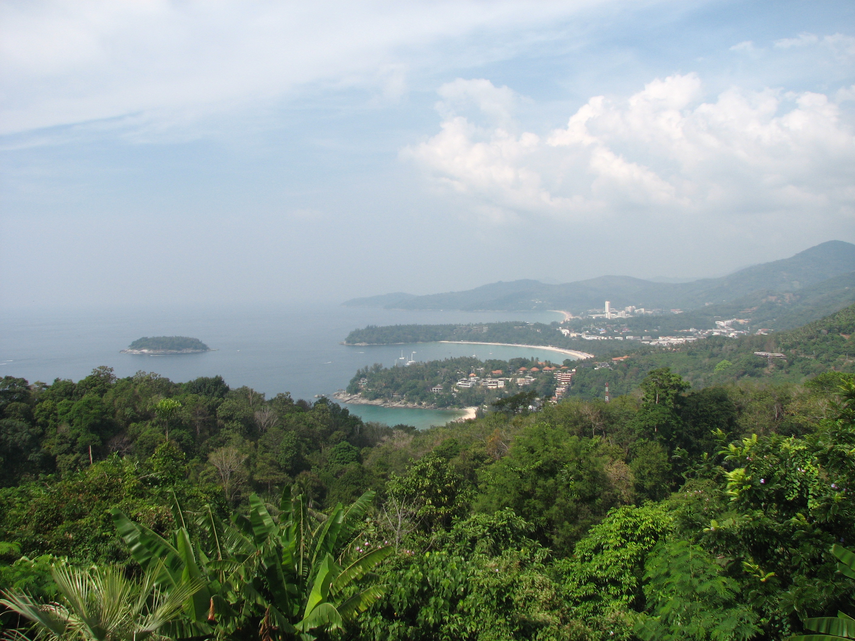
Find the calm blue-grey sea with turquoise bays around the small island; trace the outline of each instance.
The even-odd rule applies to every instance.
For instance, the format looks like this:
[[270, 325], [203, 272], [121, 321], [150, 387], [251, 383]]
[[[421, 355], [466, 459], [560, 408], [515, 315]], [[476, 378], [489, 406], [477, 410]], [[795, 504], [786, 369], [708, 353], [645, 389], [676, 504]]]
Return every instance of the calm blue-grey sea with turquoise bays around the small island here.
[[[451, 356], [507, 360], [538, 356], [561, 362], [547, 350], [504, 345], [419, 343], [347, 346], [348, 332], [367, 325], [561, 321], [558, 312], [407, 311], [348, 308], [327, 303], [144, 307], [121, 310], [0, 311], [0, 376], [35, 381], [79, 380], [101, 365], [116, 376], [140, 370], [182, 382], [220, 374], [228, 385], [249, 385], [272, 397], [288, 391], [314, 402], [344, 389], [359, 368]], [[175, 356], [121, 354], [143, 336], [190, 336], [215, 351]], [[463, 412], [347, 404], [363, 420], [404, 423], [424, 429]]]

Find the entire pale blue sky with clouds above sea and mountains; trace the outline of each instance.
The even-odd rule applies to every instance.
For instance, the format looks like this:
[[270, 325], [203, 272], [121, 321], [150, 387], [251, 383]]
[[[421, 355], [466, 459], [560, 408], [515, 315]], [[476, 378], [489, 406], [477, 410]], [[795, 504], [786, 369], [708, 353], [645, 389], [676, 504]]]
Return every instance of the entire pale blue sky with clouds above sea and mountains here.
[[0, 2], [0, 306], [718, 276], [855, 242], [855, 4]]

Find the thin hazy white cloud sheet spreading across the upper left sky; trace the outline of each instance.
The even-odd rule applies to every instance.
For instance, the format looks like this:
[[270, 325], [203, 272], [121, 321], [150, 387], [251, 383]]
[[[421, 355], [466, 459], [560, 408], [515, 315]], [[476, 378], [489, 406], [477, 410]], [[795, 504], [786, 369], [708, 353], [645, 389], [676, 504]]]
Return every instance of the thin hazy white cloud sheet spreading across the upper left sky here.
[[[181, 120], [172, 112], [196, 117], [310, 85], [368, 87], [396, 100], [407, 87], [407, 52], [435, 67], [438, 56], [458, 55], [456, 40], [473, 32], [554, 25], [615, 2], [4, 3], [0, 132], [126, 115]], [[441, 46], [426, 51], [431, 44]]]

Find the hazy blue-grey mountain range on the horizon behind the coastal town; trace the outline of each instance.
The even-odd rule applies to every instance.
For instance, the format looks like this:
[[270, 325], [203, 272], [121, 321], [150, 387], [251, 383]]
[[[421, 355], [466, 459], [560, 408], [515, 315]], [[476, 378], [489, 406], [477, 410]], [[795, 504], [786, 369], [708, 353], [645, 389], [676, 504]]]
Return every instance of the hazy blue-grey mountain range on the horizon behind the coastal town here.
[[427, 296], [396, 292], [354, 298], [344, 304], [349, 307], [466, 311], [563, 309], [579, 314], [588, 309], [603, 309], [604, 301], [608, 300], [612, 309], [628, 305], [684, 310], [714, 306], [723, 315], [728, 315], [726, 310], [735, 315], [751, 308], [756, 308], [752, 310], [756, 312], [765, 306], [765, 312], [771, 312], [775, 317], [792, 315], [793, 318], [784, 325], [798, 326], [855, 302], [853, 286], [855, 244], [830, 240], [790, 258], [753, 265], [722, 278], [689, 283], [653, 282], [630, 276], [599, 276], [563, 285], [546, 285], [527, 279], [499, 281], [473, 290]]

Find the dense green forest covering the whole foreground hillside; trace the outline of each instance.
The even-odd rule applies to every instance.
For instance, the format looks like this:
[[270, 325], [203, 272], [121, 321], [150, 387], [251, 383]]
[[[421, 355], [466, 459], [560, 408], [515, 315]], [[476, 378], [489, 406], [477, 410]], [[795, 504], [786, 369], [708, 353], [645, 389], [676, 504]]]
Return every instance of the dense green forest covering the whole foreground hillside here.
[[848, 309], [722, 343], [777, 341], [785, 358], [759, 375], [683, 377], [689, 352], [659, 351], [644, 357], [676, 367], [653, 362], [610, 403], [498, 403], [423, 432], [220, 377], [7, 376], [0, 620], [46, 638], [262, 641], [845, 629], [851, 328]]

